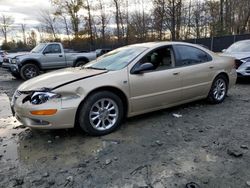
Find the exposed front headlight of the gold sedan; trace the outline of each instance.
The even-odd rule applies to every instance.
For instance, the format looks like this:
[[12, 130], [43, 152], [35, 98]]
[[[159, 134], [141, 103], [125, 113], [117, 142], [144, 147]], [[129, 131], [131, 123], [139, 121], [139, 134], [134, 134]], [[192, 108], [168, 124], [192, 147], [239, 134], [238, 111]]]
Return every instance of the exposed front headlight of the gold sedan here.
[[55, 98], [60, 98], [61, 95], [52, 92], [34, 92], [30, 97], [30, 103], [34, 105], [39, 105], [46, 103], [47, 101]]

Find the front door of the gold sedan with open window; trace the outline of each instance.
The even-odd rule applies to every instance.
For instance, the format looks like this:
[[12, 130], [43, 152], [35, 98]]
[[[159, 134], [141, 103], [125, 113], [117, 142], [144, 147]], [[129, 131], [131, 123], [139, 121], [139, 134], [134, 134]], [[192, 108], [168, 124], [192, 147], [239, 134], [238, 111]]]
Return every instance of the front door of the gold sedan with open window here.
[[133, 68], [147, 62], [152, 63], [155, 69], [129, 74], [130, 102], [135, 114], [169, 106], [181, 97], [181, 79], [174, 68], [172, 46], [149, 52]]

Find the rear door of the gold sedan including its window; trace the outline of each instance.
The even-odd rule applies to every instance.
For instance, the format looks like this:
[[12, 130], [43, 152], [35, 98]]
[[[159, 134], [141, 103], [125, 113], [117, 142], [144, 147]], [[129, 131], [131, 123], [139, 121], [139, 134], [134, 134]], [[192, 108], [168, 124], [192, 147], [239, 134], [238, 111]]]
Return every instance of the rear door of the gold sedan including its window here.
[[215, 74], [212, 57], [200, 48], [189, 45], [174, 45], [174, 51], [182, 80], [182, 100], [206, 96]]

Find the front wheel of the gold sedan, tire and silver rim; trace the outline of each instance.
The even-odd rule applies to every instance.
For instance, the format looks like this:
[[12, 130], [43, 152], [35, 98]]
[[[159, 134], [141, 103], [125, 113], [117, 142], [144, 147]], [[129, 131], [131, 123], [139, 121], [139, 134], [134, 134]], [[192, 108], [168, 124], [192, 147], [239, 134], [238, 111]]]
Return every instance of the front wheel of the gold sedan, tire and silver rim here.
[[116, 130], [123, 116], [122, 100], [112, 92], [100, 91], [90, 95], [82, 104], [78, 122], [89, 135], [101, 136]]

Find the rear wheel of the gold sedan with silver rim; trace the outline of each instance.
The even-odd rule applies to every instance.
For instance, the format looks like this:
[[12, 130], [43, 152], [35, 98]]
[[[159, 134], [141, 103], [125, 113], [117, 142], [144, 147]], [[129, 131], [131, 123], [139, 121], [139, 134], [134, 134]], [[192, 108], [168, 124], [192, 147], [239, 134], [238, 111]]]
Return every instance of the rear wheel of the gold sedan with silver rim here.
[[228, 92], [228, 79], [224, 75], [218, 75], [212, 84], [208, 94], [208, 101], [212, 104], [222, 103]]

